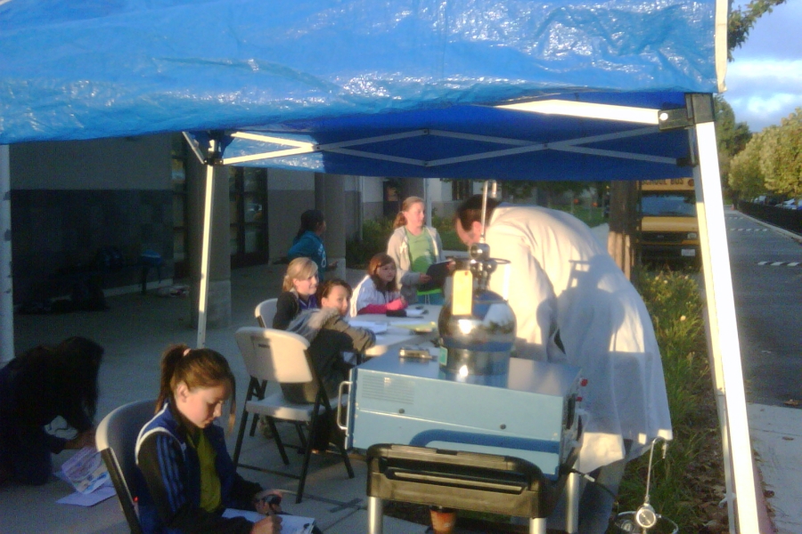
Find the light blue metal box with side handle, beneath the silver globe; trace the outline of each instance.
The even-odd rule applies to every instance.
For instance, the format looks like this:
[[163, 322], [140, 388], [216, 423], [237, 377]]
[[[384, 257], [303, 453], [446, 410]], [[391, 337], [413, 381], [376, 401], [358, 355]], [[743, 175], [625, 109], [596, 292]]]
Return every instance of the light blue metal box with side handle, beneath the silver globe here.
[[510, 359], [503, 387], [457, 382], [437, 360], [388, 352], [351, 370], [348, 447], [397, 443], [520, 457], [552, 480], [579, 449], [579, 369]]

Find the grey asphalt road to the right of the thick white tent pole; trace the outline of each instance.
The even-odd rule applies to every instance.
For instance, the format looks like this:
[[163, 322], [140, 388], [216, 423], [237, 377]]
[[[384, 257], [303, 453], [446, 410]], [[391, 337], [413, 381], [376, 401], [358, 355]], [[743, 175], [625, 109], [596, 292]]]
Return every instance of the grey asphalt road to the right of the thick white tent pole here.
[[747, 401], [802, 401], [802, 236], [724, 216]]

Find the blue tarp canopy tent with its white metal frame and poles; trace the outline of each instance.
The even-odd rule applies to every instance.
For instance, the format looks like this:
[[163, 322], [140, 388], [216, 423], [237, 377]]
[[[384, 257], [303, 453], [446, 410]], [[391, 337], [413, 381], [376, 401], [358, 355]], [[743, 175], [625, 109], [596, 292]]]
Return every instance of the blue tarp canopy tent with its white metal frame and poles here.
[[753, 532], [740, 347], [719, 336], [736, 331], [711, 101], [726, 15], [723, 0], [0, 0], [0, 145], [184, 131], [209, 166], [208, 227], [219, 165], [498, 180], [692, 169], [727, 485]]

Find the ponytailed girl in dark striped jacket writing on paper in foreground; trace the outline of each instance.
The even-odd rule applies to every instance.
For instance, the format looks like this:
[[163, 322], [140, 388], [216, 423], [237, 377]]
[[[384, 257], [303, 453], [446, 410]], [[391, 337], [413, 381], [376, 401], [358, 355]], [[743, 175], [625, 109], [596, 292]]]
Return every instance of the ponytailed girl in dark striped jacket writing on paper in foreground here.
[[[219, 532], [276, 534], [282, 520], [264, 500], [256, 482], [236, 473], [225, 433], [214, 424], [232, 399], [228, 429], [236, 410], [235, 382], [228, 362], [210, 349], [168, 347], [161, 360], [156, 415], [136, 440], [136, 465], [146, 490], [139, 495], [139, 520], [148, 534]], [[253, 523], [223, 517], [226, 508], [269, 514]]]

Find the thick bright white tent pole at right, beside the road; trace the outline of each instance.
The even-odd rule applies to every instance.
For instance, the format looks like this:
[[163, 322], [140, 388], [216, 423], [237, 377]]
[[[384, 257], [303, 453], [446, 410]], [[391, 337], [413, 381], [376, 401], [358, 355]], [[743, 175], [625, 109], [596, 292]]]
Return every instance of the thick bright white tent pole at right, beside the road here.
[[[718, 169], [715, 124], [698, 123], [695, 125], [695, 133], [701, 178], [697, 192], [701, 193], [701, 202], [704, 203], [703, 216], [699, 220], [700, 242], [702, 249], [708, 249], [703, 253], [702, 259], [708, 299], [710, 344], [713, 347], [713, 357], [720, 360], [716, 368], [720, 365], [724, 379], [724, 448], [729, 445], [729, 450], [724, 450], [724, 457], [729, 457], [732, 461], [739, 530], [759, 532], [755, 473], [743, 391], [741, 345], [735, 321], [730, 255], [724, 226], [724, 201]], [[722, 336], [721, 333], [724, 332], [726, 335]]]

